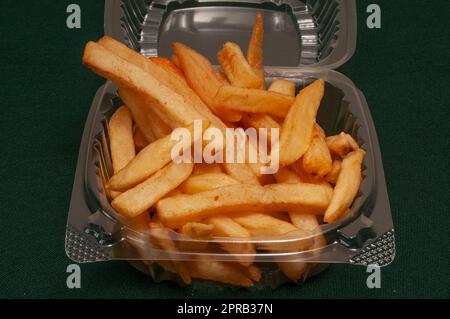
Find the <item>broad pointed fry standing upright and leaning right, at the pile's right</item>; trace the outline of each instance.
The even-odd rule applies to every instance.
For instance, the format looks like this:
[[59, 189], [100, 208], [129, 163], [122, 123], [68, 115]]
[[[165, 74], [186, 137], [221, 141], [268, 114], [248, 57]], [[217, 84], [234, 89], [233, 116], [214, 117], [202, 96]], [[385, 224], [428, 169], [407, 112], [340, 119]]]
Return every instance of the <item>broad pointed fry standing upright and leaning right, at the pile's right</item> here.
[[297, 95], [281, 128], [281, 165], [288, 166], [295, 163], [308, 150], [324, 89], [325, 83], [321, 79], [304, 88]]

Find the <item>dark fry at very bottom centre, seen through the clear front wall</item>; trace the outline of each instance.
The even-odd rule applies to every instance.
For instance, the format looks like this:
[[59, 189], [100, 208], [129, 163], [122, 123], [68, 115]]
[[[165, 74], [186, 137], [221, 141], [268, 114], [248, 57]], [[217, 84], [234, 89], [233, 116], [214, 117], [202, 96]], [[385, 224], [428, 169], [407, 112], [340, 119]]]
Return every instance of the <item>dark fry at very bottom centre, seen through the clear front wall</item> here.
[[253, 281], [230, 262], [220, 262], [209, 256], [198, 256], [188, 262], [193, 278], [211, 280], [234, 286], [251, 287]]

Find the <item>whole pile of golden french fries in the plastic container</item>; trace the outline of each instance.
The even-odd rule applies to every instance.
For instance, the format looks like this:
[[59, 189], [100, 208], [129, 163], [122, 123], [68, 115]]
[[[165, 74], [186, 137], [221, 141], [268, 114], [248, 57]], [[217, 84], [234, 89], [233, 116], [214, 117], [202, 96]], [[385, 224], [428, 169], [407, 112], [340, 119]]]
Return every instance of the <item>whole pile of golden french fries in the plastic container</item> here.
[[[200, 250], [212, 238], [243, 239], [221, 247], [237, 256], [235, 262], [207, 255], [154, 261], [186, 284], [199, 278], [254, 285], [261, 278], [253, 262], [257, 248], [245, 239], [300, 231], [313, 240], [277, 251], [317, 250], [326, 244], [321, 224], [345, 217], [359, 192], [365, 152], [346, 133], [327, 137], [316, 122], [324, 80], [300, 92], [287, 79], [266, 88], [263, 42], [257, 14], [247, 55], [226, 43], [217, 55], [220, 69], [181, 43], [173, 44], [170, 59], [145, 58], [109, 37], [85, 48], [84, 65], [116, 83], [124, 103], [109, 122], [114, 175], [106, 188], [112, 207], [137, 229], [158, 234], [156, 245], [172, 253], [187, 249], [170, 240], [173, 231], [204, 240]], [[262, 175], [258, 163], [174, 163], [171, 133], [178, 127], [193, 133], [195, 120], [221, 131], [280, 129], [281, 168]], [[306, 263], [274, 262], [292, 281], [308, 269]]]

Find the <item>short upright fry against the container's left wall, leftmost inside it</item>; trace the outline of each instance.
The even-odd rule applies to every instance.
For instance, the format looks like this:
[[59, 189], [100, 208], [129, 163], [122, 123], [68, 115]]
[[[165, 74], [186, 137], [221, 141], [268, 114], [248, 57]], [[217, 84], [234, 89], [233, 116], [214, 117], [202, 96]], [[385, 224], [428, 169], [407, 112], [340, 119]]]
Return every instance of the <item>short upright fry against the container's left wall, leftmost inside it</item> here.
[[133, 119], [126, 106], [120, 107], [109, 121], [109, 139], [113, 171], [117, 173], [136, 156]]

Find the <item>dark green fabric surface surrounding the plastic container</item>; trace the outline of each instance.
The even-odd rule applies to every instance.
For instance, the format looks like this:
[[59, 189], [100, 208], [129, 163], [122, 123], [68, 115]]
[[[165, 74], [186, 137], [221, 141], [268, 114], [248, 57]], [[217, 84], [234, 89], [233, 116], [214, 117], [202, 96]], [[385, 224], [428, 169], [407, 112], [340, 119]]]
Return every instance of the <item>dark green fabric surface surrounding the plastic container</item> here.
[[[81, 64], [103, 32], [101, 0], [77, 0], [82, 29], [65, 26], [74, 1], [0, 1], [0, 297], [450, 297], [449, 1], [358, 0], [357, 52], [340, 71], [364, 92], [383, 152], [397, 257], [382, 288], [362, 267], [333, 266], [303, 287], [232, 289], [153, 284], [126, 262], [82, 265], [66, 288], [64, 233], [78, 149], [104, 80]], [[365, 25], [382, 8], [382, 29]]]

